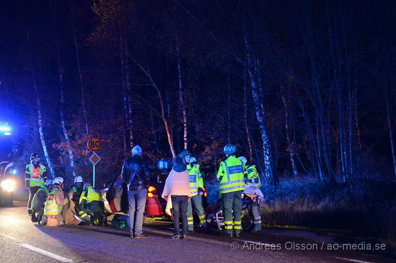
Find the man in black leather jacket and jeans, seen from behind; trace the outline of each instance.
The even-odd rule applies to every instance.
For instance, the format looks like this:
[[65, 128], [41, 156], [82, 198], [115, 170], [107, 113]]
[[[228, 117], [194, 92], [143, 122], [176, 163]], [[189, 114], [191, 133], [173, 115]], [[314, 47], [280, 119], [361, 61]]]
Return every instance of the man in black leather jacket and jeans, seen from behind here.
[[[147, 163], [142, 159], [142, 148], [136, 145], [132, 157], [122, 166], [122, 180], [128, 186], [129, 221], [131, 237], [145, 238], [143, 233], [143, 213], [145, 212], [147, 190], [150, 183]], [[135, 220], [136, 218], [136, 220]]]

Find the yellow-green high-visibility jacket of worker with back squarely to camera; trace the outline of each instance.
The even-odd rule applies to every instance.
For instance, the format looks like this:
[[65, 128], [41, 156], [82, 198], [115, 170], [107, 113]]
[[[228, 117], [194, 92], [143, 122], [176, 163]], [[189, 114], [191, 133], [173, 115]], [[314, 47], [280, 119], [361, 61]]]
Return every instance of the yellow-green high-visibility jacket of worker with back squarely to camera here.
[[217, 172], [220, 193], [245, 190], [245, 174], [247, 174], [245, 164], [235, 155], [231, 155], [221, 162]]

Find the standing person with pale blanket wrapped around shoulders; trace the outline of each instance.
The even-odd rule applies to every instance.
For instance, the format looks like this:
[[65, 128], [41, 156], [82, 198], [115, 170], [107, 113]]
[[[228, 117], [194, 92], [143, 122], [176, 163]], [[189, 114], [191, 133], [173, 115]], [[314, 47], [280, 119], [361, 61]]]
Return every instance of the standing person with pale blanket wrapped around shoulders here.
[[[171, 200], [169, 200], [171, 197]], [[166, 178], [164, 190], [162, 192], [162, 198], [168, 200], [166, 204], [167, 208], [170, 208], [169, 201], [172, 205], [173, 211], [173, 225], [175, 233], [172, 239], [185, 239], [187, 236], [187, 206], [191, 199], [191, 190], [189, 183], [189, 172], [186, 166], [183, 164], [183, 160], [180, 157], [173, 158], [173, 168], [170, 171], [169, 176]], [[179, 224], [179, 209], [182, 212], [182, 234], [180, 235], [180, 224]], [[168, 213], [168, 209], [165, 209]]]

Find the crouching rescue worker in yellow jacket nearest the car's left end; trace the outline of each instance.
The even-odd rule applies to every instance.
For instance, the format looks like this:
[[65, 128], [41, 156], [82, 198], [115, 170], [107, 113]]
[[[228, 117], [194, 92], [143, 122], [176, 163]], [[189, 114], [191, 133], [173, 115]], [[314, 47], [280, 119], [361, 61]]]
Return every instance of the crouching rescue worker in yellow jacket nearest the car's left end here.
[[[98, 190], [95, 190], [89, 182], [84, 184], [84, 190], [80, 196], [79, 216], [89, 224], [101, 225], [104, 210], [103, 199]], [[89, 217], [91, 215], [91, 219]]]

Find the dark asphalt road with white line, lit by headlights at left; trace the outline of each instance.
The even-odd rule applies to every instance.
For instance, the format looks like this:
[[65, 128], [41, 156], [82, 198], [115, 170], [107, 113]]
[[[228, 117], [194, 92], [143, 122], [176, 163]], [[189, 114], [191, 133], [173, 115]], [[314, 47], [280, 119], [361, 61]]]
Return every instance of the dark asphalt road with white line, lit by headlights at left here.
[[[243, 233], [239, 238], [197, 231], [187, 240], [172, 240], [172, 222], [146, 220], [144, 232], [150, 237], [132, 239], [127, 230], [104, 226], [40, 227], [30, 221], [24, 205], [0, 208], [0, 262], [362, 263], [395, 260], [373, 251], [329, 251], [326, 250], [328, 244], [337, 243], [334, 238], [307, 231], [263, 229], [261, 234]], [[260, 242], [268, 245], [260, 245]], [[304, 245], [305, 250], [301, 249]], [[253, 250], [253, 246], [263, 249]], [[308, 246], [312, 246], [311, 250]]]

